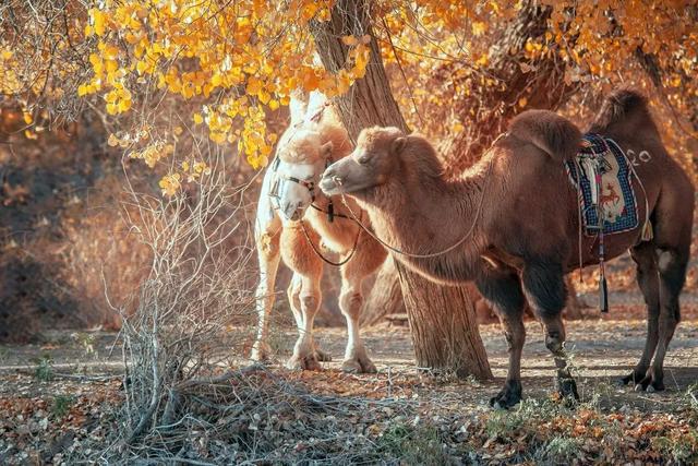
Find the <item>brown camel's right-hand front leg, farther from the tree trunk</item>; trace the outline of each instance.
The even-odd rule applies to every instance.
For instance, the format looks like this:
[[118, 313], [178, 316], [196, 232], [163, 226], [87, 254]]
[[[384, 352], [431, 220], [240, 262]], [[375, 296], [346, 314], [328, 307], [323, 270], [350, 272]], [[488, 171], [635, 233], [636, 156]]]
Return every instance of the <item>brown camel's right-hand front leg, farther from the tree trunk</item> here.
[[545, 330], [545, 346], [553, 354], [557, 368], [557, 391], [563, 397], [579, 399], [577, 383], [571, 377], [565, 354], [565, 324], [562, 311], [567, 290], [563, 267], [558, 263], [537, 261], [526, 265], [524, 291]]

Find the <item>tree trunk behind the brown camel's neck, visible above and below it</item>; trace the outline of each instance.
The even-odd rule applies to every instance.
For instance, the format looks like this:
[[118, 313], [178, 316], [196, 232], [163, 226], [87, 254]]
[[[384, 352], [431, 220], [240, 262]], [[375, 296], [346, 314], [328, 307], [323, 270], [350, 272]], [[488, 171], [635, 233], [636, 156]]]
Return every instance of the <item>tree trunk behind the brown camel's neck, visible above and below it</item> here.
[[[407, 124], [390, 93], [381, 51], [371, 34], [369, 11], [363, 1], [338, 0], [326, 23], [317, 23], [314, 35], [325, 68], [337, 72], [347, 60], [346, 35], [371, 36], [371, 59], [363, 79], [335, 99], [339, 116], [356, 141], [369, 126], [394, 126], [407, 132]], [[454, 370], [459, 377], [491, 379], [474, 309], [462, 287], [442, 287], [407, 270], [396, 261], [419, 367]]]

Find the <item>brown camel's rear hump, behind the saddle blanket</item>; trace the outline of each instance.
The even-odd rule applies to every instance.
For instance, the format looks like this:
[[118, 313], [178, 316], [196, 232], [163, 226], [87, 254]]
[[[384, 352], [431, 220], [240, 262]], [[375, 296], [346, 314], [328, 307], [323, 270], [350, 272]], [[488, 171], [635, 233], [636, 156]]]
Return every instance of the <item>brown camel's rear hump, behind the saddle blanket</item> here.
[[589, 131], [605, 133], [613, 127], [633, 123], [640, 123], [643, 130], [654, 130], [659, 134], [645, 95], [631, 87], [622, 87], [606, 96]]

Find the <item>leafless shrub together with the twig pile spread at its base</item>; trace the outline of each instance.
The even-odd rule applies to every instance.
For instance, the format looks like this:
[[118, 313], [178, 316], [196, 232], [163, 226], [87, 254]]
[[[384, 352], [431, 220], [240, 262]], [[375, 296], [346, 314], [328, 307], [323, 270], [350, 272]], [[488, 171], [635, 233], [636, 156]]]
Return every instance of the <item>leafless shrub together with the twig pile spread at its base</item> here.
[[[210, 172], [171, 198], [129, 186], [121, 216], [130, 237], [149, 249], [151, 263], [132, 303], [115, 306], [108, 299], [123, 319], [123, 403], [106, 406], [112, 410], [106, 417], [108, 437], [82, 442], [67, 459], [377, 459], [373, 440], [364, 432], [387, 422], [388, 416], [405, 417], [409, 411], [413, 417], [410, 403], [318, 395], [282, 371], [245, 367], [242, 354], [255, 327], [256, 273], [245, 205], [245, 190], [253, 181], [232, 188], [221, 152], [201, 152], [198, 158]], [[109, 290], [108, 277], [101, 276]]]

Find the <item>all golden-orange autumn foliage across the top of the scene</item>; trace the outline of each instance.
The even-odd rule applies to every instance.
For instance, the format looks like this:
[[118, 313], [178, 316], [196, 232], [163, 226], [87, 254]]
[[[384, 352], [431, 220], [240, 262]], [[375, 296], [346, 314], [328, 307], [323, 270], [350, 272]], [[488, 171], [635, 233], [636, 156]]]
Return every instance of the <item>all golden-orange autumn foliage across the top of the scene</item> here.
[[[255, 168], [265, 166], [276, 142], [266, 124], [270, 111], [288, 105], [298, 88], [320, 89], [330, 97], [348, 92], [365, 74], [371, 55], [370, 36], [345, 35], [345, 68], [330, 73], [317, 62], [312, 27], [329, 20], [332, 0], [104, 0], [82, 11], [82, 3], [70, 5], [65, 34], [51, 37], [58, 37], [52, 45], [56, 52], [76, 50], [77, 45], [87, 50], [83, 67], [88, 76], [81, 77], [74, 94], [101, 97], [104, 110], [115, 118], [136, 113], [146, 120], [156, 98], [172, 95], [190, 100], [194, 111], [182, 121], [205, 128], [216, 143], [232, 144]], [[478, 110], [448, 113], [449, 106], [444, 105], [448, 96], [477, 97], [483, 88], [505, 93], [512, 85], [492, 73], [492, 67], [502, 55], [498, 45], [506, 25], [530, 9], [528, 2], [380, 0], [370, 8], [373, 33], [394, 76], [393, 91], [410, 124], [420, 131], [436, 138], [462, 131], [478, 118]], [[598, 95], [619, 83], [660, 85], [670, 120], [697, 113], [694, 2], [545, 0], [540, 8], [550, 9], [546, 27], [512, 56], [522, 73], [530, 73], [532, 84], [502, 105], [518, 109], [532, 105], [537, 63], [554, 56], [564, 67], [568, 86]], [[38, 36], [40, 24], [27, 24], [24, 31]], [[60, 70], [47, 86], [41, 79], [48, 68], [36, 65], [28, 73], [22, 65], [29, 46], [15, 33], [0, 39], [3, 94], [26, 96], [27, 91], [39, 94], [46, 87], [61, 93], [61, 79], [71, 73], [84, 76], [76, 62], [61, 61], [51, 50], [39, 48], [44, 61], [56, 59], [53, 67]], [[578, 100], [585, 104], [583, 97]], [[23, 97], [23, 118], [31, 126], [34, 111], [27, 101]], [[430, 107], [441, 112], [438, 118], [432, 118]], [[666, 123], [664, 132], [672, 148], [688, 154], [687, 141], [695, 131], [685, 127]], [[27, 138], [33, 135], [27, 129]], [[167, 156], [166, 143], [149, 141], [136, 151], [133, 141], [109, 143], [128, 148], [149, 166]], [[181, 175], [182, 180], [190, 178]]]

